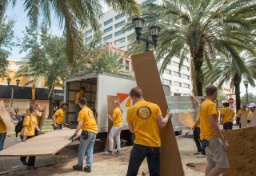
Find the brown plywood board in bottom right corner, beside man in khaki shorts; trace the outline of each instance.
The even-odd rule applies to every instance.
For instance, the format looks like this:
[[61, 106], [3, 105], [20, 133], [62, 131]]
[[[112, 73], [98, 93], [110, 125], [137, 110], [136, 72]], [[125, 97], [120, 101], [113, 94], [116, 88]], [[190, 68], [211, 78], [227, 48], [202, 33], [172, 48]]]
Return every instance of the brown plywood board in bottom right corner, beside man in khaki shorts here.
[[224, 136], [230, 148], [227, 152], [230, 168], [223, 176], [256, 175], [256, 127], [226, 130]]

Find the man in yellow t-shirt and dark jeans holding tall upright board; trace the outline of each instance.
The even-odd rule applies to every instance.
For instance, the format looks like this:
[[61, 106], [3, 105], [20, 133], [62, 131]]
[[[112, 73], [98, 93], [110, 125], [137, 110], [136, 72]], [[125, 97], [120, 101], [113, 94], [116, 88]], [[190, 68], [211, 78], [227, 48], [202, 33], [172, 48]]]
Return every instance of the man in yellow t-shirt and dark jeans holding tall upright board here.
[[162, 118], [159, 106], [152, 102], [146, 102], [139, 87], [130, 90], [130, 98], [135, 104], [128, 109], [126, 121], [130, 132], [134, 133], [136, 137], [134, 146], [130, 151], [126, 175], [137, 175], [145, 158], [150, 175], [160, 175], [161, 140], [159, 128], [166, 126], [172, 114], [167, 111], [166, 117]]

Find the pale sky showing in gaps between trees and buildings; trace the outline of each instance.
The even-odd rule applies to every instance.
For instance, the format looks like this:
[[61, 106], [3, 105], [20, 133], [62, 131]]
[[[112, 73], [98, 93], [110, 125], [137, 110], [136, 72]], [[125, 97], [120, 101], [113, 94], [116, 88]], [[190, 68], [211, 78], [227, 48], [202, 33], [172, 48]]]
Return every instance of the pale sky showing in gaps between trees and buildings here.
[[[26, 13], [24, 12], [24, 8], [22, 6], [23, 2], [24, 1], [17, 1], [17, 4], [16, 6], [14, 6], [14, 8], [9, 5], [6, 10], [6, 15], [9, 16], [10, 18], [14, 18], [14, 20], [16, 21], [14, 26], [14, 36], [15, 38], [19, 38], [19, 39], [22, 39], [22, 37], [24, 36], [22, 31], [25, 31], [26, 26], [28, 26], [29, 24], [29, 20], [26, 17]], [[103, 11], [106, 11], [108, 9], [106, 4], [104, 4], [103, 2], [102, 2], [102, 6], [104, 9]], [[41, 20], [42, 22], [42, 18], [40, 18], [39, 20]], [[62, 30], [60, 30], [60, 28], [58, 27], [57, 18], [54, 18], [54, 15], [52, 15], [51, 20], [52, 20], [52, 24], [50, 27], [50, 33], [61, 36]], [[17, 40], [14, 39], [14, 41], [17, 41]], [[20, 50], [19, 47], [13, 47], [12, 50], [10, 50], [11, 54], [8, 59], [14, 60], [14, 61], [21, 61], [22, 58], [25, 57], [26, 53], [20, 54], [19, 50]], [[241, 96], [246, 94], [246, 88], [243, 85], [243, 83], [241, 83], [240, 85], [240, 90], [241, 90]], [[256, 94], [256, 89], [249, 85], [248, 93]]]

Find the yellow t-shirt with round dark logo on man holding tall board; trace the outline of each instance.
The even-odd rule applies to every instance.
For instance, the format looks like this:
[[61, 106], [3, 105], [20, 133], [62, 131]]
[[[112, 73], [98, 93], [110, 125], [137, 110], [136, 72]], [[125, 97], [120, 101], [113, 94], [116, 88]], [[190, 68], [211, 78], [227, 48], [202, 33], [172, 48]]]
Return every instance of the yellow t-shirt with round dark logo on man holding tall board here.
[[127, 111], [126, 121], [133, 124], [136, 136], [134, 143], [143, 146], [161, 146], [158, 116], [162, 112], [158, 105], [139, 101]]

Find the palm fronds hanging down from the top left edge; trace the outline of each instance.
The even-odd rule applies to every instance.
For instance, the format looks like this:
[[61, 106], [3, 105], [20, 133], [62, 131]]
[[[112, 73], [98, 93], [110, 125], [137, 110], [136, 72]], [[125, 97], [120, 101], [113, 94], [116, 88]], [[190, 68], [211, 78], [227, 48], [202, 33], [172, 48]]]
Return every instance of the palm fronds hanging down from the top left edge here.
[[[114, 10], [127, 14], [139, 14], [135, 0], [104, 0]], [[0, 15], [6, 11], [9, 3], [13, 6], [16, 0], [2, 0], [0, 2]], [[100, 0], [30, 0], [24, 1], [24, 10], [30, 19], [32, 26], [38, 26], [38, 18], [42, 14], [46, 22], [51, 24], [50, 14], [54, 13], [58, 18], [60, 28], [64, 26], [66, 31], [66, 54], [70, 66], [74, 67], [77, 58], [82, 58], [82, 38], [79, 35], [79, 27], [92, 26], [98, 30], [98, 19], [102, 17], [102, 5]]]

